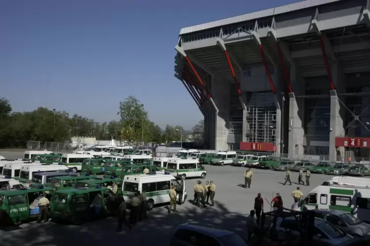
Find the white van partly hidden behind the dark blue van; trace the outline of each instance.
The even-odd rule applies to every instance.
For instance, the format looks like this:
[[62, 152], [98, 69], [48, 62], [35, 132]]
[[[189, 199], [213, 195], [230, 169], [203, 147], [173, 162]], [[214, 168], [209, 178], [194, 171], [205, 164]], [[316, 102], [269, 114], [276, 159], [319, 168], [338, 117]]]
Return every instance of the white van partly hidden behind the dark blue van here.
[[21, 167], [19, 173], [19, 181], [26, 187], [31, 185], [32, 176], [35, 173], [41, 172], [57, 172], [57, 171], [69, 171], [64, 165], [26, 165]]

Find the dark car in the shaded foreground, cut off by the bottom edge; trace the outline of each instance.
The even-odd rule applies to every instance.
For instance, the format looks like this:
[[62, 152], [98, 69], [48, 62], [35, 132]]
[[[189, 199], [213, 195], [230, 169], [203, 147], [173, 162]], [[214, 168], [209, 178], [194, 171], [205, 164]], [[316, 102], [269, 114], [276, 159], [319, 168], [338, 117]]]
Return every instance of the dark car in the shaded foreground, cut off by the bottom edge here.
[[171, 236], [170, 246], [191, 245], [248, 246], [238, 234], [213, 225], [198, 222], [180, 224]]

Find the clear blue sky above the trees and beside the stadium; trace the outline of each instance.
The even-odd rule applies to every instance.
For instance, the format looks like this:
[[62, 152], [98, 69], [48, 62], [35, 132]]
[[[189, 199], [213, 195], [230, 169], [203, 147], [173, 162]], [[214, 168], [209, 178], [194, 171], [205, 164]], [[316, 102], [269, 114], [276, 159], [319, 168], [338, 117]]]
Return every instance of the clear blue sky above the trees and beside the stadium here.
[[173, 74], [181, 27], [294, 0], [1, 0], [0, 97], [98, 122], [136, 96], [161, 127], [203, 119]]

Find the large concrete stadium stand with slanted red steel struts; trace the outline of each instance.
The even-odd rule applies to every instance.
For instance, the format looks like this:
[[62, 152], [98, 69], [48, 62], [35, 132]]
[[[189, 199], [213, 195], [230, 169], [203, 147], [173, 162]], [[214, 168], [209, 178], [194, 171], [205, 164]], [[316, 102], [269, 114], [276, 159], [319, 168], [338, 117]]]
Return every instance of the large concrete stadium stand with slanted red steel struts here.
[[306, 0], [180, 30], [207, 148], [369, 157], [369, 0]]

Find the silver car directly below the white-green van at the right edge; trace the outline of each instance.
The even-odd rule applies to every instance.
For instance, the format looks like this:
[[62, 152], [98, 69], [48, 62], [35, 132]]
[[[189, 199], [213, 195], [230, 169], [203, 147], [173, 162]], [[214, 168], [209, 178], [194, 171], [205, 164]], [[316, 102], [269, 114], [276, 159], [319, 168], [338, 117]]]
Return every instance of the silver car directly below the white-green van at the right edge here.
[[370, 235], [370, 224], [360, 221], [353, 215], [341, 210], [314, 209], [316, 217], [328, 221], [354, 237]]

